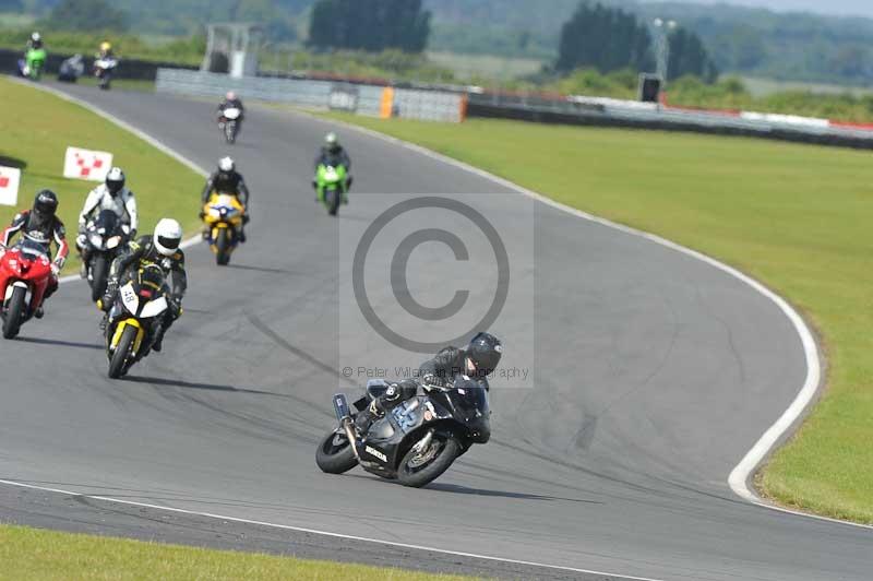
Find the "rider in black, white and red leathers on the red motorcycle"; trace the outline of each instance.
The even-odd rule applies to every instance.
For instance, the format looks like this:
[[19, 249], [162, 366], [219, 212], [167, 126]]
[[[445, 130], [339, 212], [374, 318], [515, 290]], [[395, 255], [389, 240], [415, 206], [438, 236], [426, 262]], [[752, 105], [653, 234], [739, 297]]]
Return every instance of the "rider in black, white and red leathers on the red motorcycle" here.
[[58, 253], [51, 263], [51, 276], [43, 296], [43, 304], [34, 311], [34, 317], [37, 319], [43, 318], [43, 306], [46, 304], [46, 299], [58, 289], [58, 272], [63, 268], [70, 251], [67, 245], [67, 229], [63, 227], [63, 222], [56, 215], [57, 211], [58, 197], [51, 190], [41, 190], [34, 199], [33, 209], [22, 210], [17, 213], [12, 218], [12, 224], [0, 236], [0, 244], [8, 247], [15, 234], [20, 232], [22, 237], [41, 245], [49, 258], [51, 257], [52, 240], [58, 246]]

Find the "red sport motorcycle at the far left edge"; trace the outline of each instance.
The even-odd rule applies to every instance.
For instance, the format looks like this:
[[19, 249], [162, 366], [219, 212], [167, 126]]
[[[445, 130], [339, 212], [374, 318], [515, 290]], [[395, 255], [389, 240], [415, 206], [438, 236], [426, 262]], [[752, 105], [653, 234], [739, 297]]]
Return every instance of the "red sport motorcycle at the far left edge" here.
[[22, 323], [43, 304], [51, 277], [51, 262], [44, 245], [24, 239], [0, 256], [0, 289], [3, 292], [3, 337], [14, 339]]

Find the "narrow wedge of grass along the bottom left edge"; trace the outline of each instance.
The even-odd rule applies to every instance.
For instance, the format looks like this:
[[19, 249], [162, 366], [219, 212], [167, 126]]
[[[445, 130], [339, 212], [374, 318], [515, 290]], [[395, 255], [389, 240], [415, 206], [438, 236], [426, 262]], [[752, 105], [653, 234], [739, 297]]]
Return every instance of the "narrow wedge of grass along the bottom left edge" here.
[[461, 581], [461, 577], [0, 525], [0, 579]]

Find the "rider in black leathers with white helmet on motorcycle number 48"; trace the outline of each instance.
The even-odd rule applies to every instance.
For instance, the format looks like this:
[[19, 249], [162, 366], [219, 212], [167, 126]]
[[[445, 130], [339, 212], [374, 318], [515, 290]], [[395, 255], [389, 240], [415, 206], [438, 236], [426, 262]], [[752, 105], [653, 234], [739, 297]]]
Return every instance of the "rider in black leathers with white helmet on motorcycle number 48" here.
[[124, 280], [135, 275], [140, 269], [155, 264], [164, 271], [164, 277], [172, 280], [172, 285], [166, 294], [167, 310], [155, 332], [152, 349], [160, 352], [164, 345], [164, 335], [172, 323], [182, 313], [182, 298], [188, 289], [188, 275], [184, 271], [184, 252], [179, 248], [182, 242], [182, 227], [172, 218], [162, 218], [155, 226], [151, 236], [141, 236], [131, 240], [127, 248], [112, 261], [109, 269], [109, 281], [106, 294], [98, 303], [104, 310], [101, 329], [106, 329], [109, 321], [109, 310], [115, 305], [116, 294], [122, 277]]

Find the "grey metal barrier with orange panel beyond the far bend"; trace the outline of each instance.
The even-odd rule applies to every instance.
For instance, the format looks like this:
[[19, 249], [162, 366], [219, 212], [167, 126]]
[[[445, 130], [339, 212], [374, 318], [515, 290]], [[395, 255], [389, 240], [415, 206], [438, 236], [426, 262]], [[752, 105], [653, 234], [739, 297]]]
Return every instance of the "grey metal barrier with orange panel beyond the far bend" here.
[[243, 76], [177, 69], [157, 71], [157, 91], [219, 98], [236, 91], [244, 98], [354, 111], [373, 117], [461, 121], [465, 96], [337, 81]]

